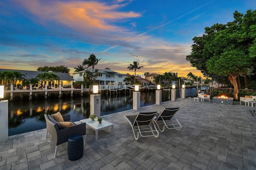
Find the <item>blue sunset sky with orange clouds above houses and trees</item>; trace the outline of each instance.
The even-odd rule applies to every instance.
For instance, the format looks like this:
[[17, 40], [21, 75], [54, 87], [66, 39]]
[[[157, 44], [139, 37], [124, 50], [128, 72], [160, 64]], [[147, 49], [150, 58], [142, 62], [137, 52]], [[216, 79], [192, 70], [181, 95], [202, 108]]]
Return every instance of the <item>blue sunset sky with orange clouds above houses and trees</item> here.
[[232, 21], [255, 0], [2, 0], [0, 68], [36, 70], [64, 65], [74, 71], [91, 53], [96, 68], [133, 74], [192, 72], [186, 55], [204, 27]]

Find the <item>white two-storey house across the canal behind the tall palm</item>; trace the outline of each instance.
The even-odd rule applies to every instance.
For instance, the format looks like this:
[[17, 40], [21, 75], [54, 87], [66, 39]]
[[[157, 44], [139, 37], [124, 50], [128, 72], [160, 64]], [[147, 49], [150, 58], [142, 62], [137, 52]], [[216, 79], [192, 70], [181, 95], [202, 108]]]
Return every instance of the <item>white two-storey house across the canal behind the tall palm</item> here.
[[[97, 68], [94, 68], [94, 71]], [[73, 73], [73, 78], [76, 81], [84, 81], [84, 72], [82, 70]], [[88, 71], [92, 72], [92, 68], [88, 68]], [[98, 85], [123, 85], [126, 74], [115, 72], [110, 69], [98, 69], [98, 76], [96, 78], [96, 84]]]

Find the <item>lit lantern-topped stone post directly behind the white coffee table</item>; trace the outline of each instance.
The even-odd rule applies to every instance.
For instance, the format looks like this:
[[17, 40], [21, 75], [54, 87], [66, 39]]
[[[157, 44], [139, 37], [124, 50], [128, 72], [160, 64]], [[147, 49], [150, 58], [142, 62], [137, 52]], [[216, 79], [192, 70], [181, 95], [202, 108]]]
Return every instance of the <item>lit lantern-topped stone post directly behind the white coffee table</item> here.
[[90, 115], [100, 117], [100, 94], [98, 94], [98, 86], [93, 86], [93, 94], [90, 95]]

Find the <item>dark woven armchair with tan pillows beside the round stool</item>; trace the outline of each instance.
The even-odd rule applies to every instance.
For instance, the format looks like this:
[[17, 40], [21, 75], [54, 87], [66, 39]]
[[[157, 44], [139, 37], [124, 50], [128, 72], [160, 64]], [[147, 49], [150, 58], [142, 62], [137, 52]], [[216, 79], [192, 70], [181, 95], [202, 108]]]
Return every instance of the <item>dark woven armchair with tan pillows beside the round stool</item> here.
[[[64, 121], [71, 121], [70, 120], [70, 114], [62, 115], [62, 117], [63, 117]], [[52, 141], [54, 141], [54, 143], [56, 143], [54, 157], [57, 156], [58, 146], [62, 143], [67, 142], [68, 138], [71, 135], [82, 135], [84, 137], [84, 145], [85, 145], [86, 123], [81, 123], [81, 124], [76, 125], [74, 122], [72, 122], [74, 124], [73, 127], [68, 127], [68, 128], [59, 130], [59, 127], [56, 124], [56, 122], [51, 121], [47, 114], [44, 114], [44, 118], [45, 118], [45, 121], [46, 121], [46, 135], [45, 135], [45, 138], [47, 137], [47, 133], [49, 133], [51, 135]]]

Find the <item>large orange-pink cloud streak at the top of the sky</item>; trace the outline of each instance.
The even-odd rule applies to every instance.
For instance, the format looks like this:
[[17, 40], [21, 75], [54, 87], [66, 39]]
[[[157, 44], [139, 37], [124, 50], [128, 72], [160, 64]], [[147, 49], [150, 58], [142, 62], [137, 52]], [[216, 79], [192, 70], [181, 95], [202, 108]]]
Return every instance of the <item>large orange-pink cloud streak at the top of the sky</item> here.
[[100, 2], [47, 2], [40, 0], [23, 0], [22, 5], [40, 20], [55, 20], [77, 31], [120, 31], [120, 28], [107, 21], [137, 18], [135, 12], [117, 12], [122, 5], [107, 5]]

